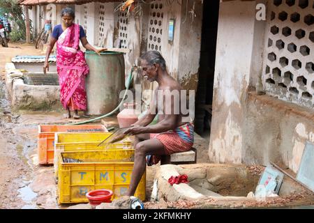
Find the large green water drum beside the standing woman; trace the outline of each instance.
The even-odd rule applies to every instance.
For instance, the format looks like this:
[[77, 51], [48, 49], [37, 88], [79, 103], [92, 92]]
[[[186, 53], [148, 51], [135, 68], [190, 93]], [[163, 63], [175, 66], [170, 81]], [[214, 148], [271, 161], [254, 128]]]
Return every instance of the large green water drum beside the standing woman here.
[[125, 89], [124, 54], [120, 52], [85, 52], [89, 66], [85, 86], [87, 91], [87, 114], [107, 114], [121, 100], [120, 92]]

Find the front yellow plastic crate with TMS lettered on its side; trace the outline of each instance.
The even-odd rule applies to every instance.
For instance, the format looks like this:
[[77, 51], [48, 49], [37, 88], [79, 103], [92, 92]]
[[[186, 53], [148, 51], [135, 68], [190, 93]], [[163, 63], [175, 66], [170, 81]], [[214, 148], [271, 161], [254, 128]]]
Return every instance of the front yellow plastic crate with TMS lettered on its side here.
[[[133, 156], [133, 149], [61, 152], [58, 203], [87, 203], [87, 192], [98, 189], [112, 190], [112, 199], [123, 196], [130, 184], [134, 164], [130, 161]], [[82, 162], [63, 162], [63, 157]], [[145, 191], [146, 171], [137, 186], [135, 197], [144, 201]]]

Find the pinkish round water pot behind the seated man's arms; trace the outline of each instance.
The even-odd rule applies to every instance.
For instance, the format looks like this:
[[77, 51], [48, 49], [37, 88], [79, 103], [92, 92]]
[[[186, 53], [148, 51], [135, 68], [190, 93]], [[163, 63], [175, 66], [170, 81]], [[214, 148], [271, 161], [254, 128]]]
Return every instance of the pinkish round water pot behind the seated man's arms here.
[[124, 109], [117, 115], [120, 128], [129, 127], [133, 123], [137, 122], [138, 118], [135, 114], [135, 102], [124, 103]]

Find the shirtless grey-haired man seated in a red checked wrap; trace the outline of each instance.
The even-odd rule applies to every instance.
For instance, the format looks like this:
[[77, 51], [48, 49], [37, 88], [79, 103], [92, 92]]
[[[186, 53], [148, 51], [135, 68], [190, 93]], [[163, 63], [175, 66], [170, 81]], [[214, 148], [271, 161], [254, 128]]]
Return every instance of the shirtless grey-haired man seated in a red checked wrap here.
[[[158, 82], [150, 109], [140, 120], [124, 132], [135, 135], [135, 160], [127, 196], [133, 196], [146, 169], [145, 157], [149, 164], [158, 163], [160, 155], [190, 150], [194, 142], [194, 127], [188, 114], [181, 111], [180, 84], [166, 70], [165, 59], [157, 51], [141, 56], [142, 75], [149, 82]], [[149, 125], [158, 114], [158, 123]], [[188, 120], [188, 121], [187, 121]]]

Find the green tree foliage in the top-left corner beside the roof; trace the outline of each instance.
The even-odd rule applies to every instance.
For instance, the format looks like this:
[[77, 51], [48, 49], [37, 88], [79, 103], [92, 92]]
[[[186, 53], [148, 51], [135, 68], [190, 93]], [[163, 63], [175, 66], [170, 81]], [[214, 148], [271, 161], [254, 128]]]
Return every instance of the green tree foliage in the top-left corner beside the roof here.
[[8, 13], [8, 19], [12, 21], [12, 33], [10, 38], [13, 41], [26, 39], [26, 25], [22, 6], [17, 4], [17, 0], [1, 0], [0, 15]]

